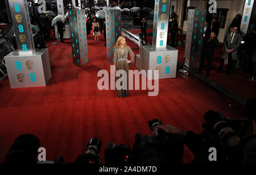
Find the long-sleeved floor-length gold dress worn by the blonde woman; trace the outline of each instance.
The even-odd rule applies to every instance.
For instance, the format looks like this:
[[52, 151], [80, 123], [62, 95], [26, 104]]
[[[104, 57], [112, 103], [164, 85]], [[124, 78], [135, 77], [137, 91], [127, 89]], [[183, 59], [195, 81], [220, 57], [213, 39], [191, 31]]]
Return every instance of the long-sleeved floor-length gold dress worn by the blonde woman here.
[[[122, 50], [123, 50], [123, 53], [122, 53]], [[126, 61], [127, 61], [127, 56], [128, 56], [128, 53], [130, 54], [130, 57], [131, 57], [131, 62], [130, 64], [127, 64]], [[115, 48], [115, 51], [114, 51], [114, 65], [115, 65], [115, 69], [118, 71], [118, 70], [125, 70], [126, 72], [126, 87], [127, 89], [121, 89], [121, 90], [117, 90], [117, 95], [118, 97], [126, 97], [129, 95], [129, 65], [133, 64], [134, 63], [134, 53], [133, 51], [131, 50], [131, 48], [129, 46], [126, 46], [124, 48]], [[115, 82], [121, 78], [120, 77], [116, 77], [116, 80]], [[121, 83], [121, 86], [122, 86], [122, 83]]]

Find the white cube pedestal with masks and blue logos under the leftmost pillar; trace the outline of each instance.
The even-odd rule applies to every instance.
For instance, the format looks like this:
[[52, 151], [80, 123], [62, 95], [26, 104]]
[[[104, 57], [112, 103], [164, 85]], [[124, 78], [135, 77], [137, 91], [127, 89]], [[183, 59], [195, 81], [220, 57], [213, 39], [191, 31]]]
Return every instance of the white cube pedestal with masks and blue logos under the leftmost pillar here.
[[33, 55], [19, 55], [18, 50], [5, 56], [11, 88], [46, 86], [51, 78], [48, 49]]

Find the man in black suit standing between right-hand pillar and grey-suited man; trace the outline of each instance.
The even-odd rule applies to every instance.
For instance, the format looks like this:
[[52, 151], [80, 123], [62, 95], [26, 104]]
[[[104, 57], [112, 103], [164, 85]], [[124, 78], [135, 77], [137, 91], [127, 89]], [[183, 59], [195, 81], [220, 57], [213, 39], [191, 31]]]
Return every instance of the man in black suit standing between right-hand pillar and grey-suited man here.
[[208, 77], [210, 74], [210, 68], [212, 67], [212, 59], [214, 55], [214, 50], [217, 48], [218, 39], [216, 38], [216, 32], [212, 31], [210, 33], [210, 37], [207, 37], [204, 40], [202, 55], [201, 55], [201, 62], [199, 66], [199, 72], [203, 70], [204, 61], [207, 59], [207, 72], [205, 77]]

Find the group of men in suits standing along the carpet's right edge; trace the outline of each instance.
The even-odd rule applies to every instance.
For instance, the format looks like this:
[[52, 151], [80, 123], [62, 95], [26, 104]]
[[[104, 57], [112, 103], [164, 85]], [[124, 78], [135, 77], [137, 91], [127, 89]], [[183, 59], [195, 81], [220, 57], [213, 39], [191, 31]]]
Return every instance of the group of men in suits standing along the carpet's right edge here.
[[[256, 44], [253, 42], [256, 39], [256, 27], [249, 30], [247, 34], [242, 36], [240, 31], [241, 26], [241, 14], [236, 15], [232, 23], [229, 26], [229, 30], [225, 35], [223, 41], [223, 52], [221, 56], [220, 66], [217, 73], [223, 70], [225, 60], [228, 61], [226, 66], [226, 75], [229, 76], [230, 72], [237, 68], [237, 70], [243, 70], [249, 74], [253, 74], [255, 62], [253, 62], [253, 53], [255, 52]], [[207, 71], [205, 77], [210, 74], [212, 67], [212, 60], [214, 57], [214, 50], [218, 46], [218, 34], [220, 32], [220, 24], [218, 18], [213, 18], [213, 24], [210, 26], [205, 21], [204, 30], [204, 42], [201, 52], [201, 61], [199, 66], [199, 72], [203, 70], [204, 62], [207, 60]], [[243, 41], [243, 42], [241, 42]], [[239, 64], [237, 63], [239, 60]]]

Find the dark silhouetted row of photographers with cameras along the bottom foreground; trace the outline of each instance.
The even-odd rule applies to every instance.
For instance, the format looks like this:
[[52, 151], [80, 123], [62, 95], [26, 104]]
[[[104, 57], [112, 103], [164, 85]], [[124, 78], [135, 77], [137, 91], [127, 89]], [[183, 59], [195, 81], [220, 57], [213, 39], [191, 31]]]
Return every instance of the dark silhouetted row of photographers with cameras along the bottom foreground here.
[[[152, 134], [135, 134], [133, 147], [108, 143], [105, 147], [106, 164], [182, 164], [184, 144], [195, 158], [192, 164], [255, 164], [256, 163], [256, 99], [247, 101], [243, 118], [229, 119], [218, 111], [209, 110], [204, 115], [204, 131], [182, 131], [161, 120], [148, 121]], [[242, 116], [242, 114], [241, 114]], [[150, 131], [149, 130], [149, 131]], [[149, 132], [150, 133], [150, 132]], [[101, 139], [92, 138], [77, 164], [102, 164]], [[39, 139], [30, 134], [20, 135], [9, 149], [5, 164], [36, 164]], [[57, 156], [57, 155], [56, 155]], [[45, 163], [49, 163], [45, 162]], [[58, 157], [52, 163], [64, 163]]]

